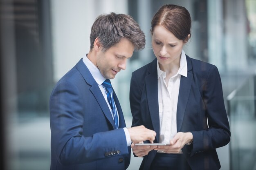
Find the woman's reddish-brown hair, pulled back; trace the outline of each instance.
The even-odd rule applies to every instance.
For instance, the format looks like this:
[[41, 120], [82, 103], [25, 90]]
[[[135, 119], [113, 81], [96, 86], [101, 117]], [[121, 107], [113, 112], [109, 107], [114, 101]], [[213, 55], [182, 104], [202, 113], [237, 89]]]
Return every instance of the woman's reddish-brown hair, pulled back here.
[[153, 34], [157, 25], [164, 26], [176, 38], [184, 42], [188, 42], [191, 37], [191, 17], [189, 11], [184, 7], [173, 4], [166, 4], [160, 7], [151, 21], [151, 34]]

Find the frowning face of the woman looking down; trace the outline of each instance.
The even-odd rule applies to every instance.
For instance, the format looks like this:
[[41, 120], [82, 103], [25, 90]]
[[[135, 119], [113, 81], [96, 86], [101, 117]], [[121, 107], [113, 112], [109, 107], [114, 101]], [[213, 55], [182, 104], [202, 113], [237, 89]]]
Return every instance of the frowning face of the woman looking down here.
[[184, 42], [179, 40], [164, 26], [157, 25], [152, 35], [152, 47], [159, 64], [180, 64]]

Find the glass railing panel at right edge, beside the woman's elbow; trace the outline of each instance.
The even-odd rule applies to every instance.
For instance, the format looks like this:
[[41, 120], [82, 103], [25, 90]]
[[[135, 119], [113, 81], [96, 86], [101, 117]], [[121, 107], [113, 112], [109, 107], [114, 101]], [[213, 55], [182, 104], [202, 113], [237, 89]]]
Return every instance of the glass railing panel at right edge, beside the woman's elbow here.
[[250, 77], [243, 86], [228, 97], [230, 117], [230, 168], [254, 170], [256, 168], [256, 76]]

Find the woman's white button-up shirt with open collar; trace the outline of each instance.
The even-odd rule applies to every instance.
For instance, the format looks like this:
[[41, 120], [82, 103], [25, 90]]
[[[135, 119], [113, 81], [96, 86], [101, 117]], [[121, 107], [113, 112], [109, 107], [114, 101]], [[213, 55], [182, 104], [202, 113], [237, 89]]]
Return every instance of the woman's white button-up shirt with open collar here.
[[170, 144], [177, 133], [177, 103], [180, 89], [180, 77], [187, 77], [187, 63], [186, 55], [182, 50], [180, 57], [180, 68], [178, 72], [173, 75], [169, 81], [168, 86], [164, 78], [166, 72], [159, 68], [157, 62], [157, 78], [158, 78], [158, 106], [159, 106], [159, 119], [160, 119], [160, 136], [159, 143]]

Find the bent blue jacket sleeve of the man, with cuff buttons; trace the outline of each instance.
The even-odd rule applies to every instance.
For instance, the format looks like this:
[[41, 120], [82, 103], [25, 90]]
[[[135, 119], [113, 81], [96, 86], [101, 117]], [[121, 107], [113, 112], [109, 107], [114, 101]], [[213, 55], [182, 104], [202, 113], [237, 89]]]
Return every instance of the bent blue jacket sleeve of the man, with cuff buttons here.
[[[89, 100], [89, 99], [88, 99]], [[129, 154], [123, 128], [83, 135], [85, 102], [78, 88], [63, 82], [54, 88], [50, 97], [51, 149], [63, 164], [77, 164], [106, 157]], [[88, 125], [88, 130], [101, 126]]]

